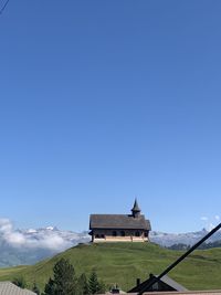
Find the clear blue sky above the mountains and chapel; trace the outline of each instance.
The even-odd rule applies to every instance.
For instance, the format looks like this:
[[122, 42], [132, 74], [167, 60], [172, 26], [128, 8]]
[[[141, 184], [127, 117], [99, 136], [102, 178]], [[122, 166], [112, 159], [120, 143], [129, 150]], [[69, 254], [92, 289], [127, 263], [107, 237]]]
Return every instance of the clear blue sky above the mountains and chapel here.
[[[1, 1], [2, 2], [2, 1]], [[221, 208], [220, 1], [10, 1], [0, 17], [0, 217], [200, 230]]]

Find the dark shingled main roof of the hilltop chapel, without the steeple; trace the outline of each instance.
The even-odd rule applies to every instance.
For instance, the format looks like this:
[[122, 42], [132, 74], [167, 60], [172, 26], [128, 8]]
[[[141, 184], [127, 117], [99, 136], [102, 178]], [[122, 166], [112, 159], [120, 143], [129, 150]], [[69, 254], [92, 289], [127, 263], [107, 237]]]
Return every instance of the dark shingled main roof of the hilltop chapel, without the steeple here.
[[150, 222], [145, 220], [145, 215], [134, 218], [124, 214], [92, 214], [90, 230], [93, 229], [151, 230]]

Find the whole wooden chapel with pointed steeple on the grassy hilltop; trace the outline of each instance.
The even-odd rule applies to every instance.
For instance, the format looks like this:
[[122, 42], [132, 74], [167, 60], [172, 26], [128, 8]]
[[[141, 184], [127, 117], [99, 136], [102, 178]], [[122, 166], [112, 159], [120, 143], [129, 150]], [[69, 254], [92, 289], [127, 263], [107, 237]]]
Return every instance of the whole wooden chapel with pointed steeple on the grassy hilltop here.
[[148, 242], [150, 221], [135, 200], [131, 214], [91, 214], [92, 242]]

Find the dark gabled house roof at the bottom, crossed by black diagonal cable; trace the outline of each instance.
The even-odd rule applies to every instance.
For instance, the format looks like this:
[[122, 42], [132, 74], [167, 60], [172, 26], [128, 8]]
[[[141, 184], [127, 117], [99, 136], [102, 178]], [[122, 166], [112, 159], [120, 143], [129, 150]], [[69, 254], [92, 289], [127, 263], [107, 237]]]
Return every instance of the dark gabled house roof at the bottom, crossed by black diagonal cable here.
[[[157, 277], [156, 275], [151, 275], [148, 280], [146, 280], [145, 282], [143, 282], [141, 284], [139, 284], [138, 286], [131, 288], [127, 293], [138, 293], [140, 291], [148, 292], [149, 289], [145, 289], [145, 286], [148, 286], [150, 284], [150, 282], [152, 280], [155, 280], [156, 277]], [[188, 291], [186, 287], [183, 287], [182, 285], [178, 284], [176, 281], [173, 281], [171, 277], [169, 277], [167, 275], [162, 276], [159, 280], [159, 282], [162, 282], [164, 284], [166, 284], [168, 287], [172, 288], [173, 291], [178, 291], [178, 292]], [[168, 291], [169, 291], [169, 288], [168, 288]]]

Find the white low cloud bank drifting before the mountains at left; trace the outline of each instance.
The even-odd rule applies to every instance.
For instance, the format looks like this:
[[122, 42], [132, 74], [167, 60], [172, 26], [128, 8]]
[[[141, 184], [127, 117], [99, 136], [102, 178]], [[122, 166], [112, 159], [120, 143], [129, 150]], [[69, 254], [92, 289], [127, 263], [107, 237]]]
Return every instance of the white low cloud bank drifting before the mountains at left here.
[[48, 228], [41, 231], [19, 231], [9, 219], [0, 219], [0, 240], [13, 247], [48, 249], [63, 251], [73, 245], [59, 231]]

